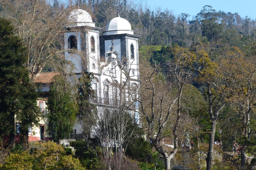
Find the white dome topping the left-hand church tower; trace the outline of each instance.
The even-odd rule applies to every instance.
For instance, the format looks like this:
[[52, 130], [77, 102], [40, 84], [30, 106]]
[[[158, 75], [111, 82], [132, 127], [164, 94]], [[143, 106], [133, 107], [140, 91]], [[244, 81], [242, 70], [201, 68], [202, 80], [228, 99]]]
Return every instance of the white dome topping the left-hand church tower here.
[[95, 27], [95, 23], [92, 22], [91, 15], [82, 9], [73, 10], [70, 13], [69, 20], [71, 22], [70, 27], [76, 27], [76, 26]]

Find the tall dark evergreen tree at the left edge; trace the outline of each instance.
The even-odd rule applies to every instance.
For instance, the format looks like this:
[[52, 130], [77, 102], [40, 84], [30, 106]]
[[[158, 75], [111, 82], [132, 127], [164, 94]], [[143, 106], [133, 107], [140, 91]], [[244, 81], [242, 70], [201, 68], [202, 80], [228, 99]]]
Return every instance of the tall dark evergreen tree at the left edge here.
[[[21, 124], [21, 139], [27, 142], [28, 127], [39, 121], [37, 95], [30, 83], [26, 48], [14, 36], [10, 22], [0, 18], [0, 133], [14, 142], [15, 121]], [[16, 116], [16, 120], [15, 120]]]

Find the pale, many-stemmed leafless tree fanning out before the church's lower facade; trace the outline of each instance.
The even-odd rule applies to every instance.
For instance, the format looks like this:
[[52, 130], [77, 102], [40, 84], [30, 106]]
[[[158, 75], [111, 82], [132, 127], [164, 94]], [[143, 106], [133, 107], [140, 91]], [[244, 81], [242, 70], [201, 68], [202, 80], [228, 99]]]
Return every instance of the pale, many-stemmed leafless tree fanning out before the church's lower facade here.
[[130, 138], [136, 134], [138, 125], [126, 102], [117, 107], [98, 107], [97, 120], [94, 130], [102, 148], [103, 160], [108, 169], [111, 169], [113, 152], [115, 158], [123, 157]]

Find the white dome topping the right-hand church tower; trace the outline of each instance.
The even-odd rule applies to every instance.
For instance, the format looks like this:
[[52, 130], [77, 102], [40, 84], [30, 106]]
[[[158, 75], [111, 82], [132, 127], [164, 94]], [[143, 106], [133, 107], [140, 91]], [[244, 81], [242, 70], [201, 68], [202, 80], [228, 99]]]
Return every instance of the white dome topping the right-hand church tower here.
[[106, 31], [103, 35], [113, 35], [113, 34], [133, 34], [131, 24], [121, 17], [113, 18], [108, 22], [106, 26]]

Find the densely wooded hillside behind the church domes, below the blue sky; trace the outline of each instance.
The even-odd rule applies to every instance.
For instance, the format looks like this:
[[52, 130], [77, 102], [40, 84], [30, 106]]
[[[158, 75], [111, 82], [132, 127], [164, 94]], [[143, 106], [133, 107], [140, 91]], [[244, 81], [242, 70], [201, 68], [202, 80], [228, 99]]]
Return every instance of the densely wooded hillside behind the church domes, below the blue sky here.
[[192, 20], [188, 20], [190, 14], [187, 13], [176, 16], [168, 9], [150, 10], [151, 7], [126, 0], [106, 2], [81, 2], [81, 8], [84, 5], [84, 8], [93, 12], [96, 25], [103, 28], [103, 31], [106, 23], [120, 10], [120, 16], [131, 23], [135, 34], [141, 36], [141, 45], [175, 43], [190, 46], [195, 37], [206, 42], [208, 40], [212, 46], [227, 43], [241, 46], [247, 44], [248, 40], [255, 40], [254, 18], [242, 18], [239, 13], [228, 11], [215, 11], [207, 4], [202, 4], [202, 10]]

